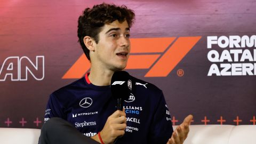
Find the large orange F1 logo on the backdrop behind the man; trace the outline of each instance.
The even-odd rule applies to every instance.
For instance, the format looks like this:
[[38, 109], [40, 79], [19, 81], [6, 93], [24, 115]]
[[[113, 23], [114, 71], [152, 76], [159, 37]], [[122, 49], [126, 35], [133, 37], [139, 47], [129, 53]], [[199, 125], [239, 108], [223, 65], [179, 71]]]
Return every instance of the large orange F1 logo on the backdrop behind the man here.
[[[145, 77], [166, 77], [199, 39], [201, 36], [131, 38], [131, 54], [125, 69], [149, 69]], [[89, 69], [90, 62], [82, 54], [62, 78], [81, 78]]]

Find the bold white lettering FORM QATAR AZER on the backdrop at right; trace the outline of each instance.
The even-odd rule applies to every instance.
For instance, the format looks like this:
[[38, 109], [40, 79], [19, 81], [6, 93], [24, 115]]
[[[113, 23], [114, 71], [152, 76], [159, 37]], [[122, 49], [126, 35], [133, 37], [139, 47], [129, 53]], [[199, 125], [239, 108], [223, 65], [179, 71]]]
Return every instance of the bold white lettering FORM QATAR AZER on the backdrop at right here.
[[208, 36], [207, 76], [246, 76], [256, 74], [256, 36]]

